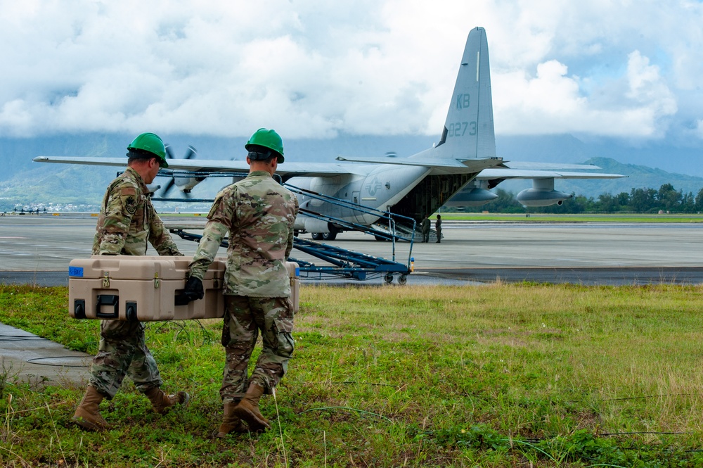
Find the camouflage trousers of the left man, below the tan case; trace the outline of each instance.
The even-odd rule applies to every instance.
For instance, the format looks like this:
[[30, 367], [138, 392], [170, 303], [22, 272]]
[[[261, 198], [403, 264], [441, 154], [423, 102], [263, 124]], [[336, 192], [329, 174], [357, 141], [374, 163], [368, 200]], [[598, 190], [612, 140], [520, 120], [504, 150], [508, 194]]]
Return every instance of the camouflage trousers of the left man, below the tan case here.
[[141, 322], [101, 320], [100, 346], [93, 358], [89, 384], [112, 399], [125, 375], [134, 381], [138, 391], [161, 386], [156, 361], [146, 347]]

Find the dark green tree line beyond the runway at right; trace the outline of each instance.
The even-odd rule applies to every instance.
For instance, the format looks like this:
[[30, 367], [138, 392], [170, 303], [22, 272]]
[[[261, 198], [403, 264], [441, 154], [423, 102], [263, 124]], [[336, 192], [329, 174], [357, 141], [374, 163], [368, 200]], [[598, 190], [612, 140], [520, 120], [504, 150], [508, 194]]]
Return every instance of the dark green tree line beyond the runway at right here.
[[[464, 211], [480, 213], [524, 213], [526, 208], [516, 199], [516, 194], [502, 189], [496, 190], [494, 201], [478, 207], [467, 207]], [[663, 184], [657, 189], [631, 189], [630, 193], [620, 192], [600, 194], [598, 198], [572, 193], [572, 198], [562, 205], [529, 208], [530, 213], [703, 213], [703, 189], [696, 196], [692, 192], [684, 194], [671, 184]], [[447, 209], [446, 211], [451, 211]]]

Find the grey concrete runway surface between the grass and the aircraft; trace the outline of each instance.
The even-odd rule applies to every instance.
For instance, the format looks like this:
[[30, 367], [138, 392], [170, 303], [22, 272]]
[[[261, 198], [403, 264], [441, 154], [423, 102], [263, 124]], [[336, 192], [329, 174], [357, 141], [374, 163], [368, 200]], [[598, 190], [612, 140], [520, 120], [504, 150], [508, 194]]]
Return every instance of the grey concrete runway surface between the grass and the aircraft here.
[[[164, 220], [191, 227], [205, 223], [203, 217]], [[90, 255], [95, 223], [90, 215], [0, 217], [0, 282], [67, 285], [70, 260]], [[443, 233], [441, 244], [415, 243], [412, 252], [410, 244], [396, 244], [396, 261], [407, 263], [410, 255], [415, 260], [408, 284], [481, 284], [496, 279], [703, 284], [703, 224], [445, 222]], [[179, 238], [176, 244], [186, 255], [197, 246]], [[384, 258], [394, 255], [392, 243], [357, 232], [342, 233], [330, 244]], [[320, 263], [299, 251], [292, 256]], [[364, 284], [368, 283], [381, 280]]]

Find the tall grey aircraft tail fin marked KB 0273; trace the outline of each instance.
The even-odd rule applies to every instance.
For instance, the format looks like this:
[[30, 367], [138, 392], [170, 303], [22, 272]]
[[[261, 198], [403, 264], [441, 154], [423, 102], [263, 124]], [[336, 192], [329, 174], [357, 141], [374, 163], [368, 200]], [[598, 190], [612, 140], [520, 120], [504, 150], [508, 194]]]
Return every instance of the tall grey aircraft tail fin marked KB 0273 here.
[[439, 158], [496, 157], [488, 41], [482, 27], [472, 29], [466, 39], [444, 130], [435, 149]]

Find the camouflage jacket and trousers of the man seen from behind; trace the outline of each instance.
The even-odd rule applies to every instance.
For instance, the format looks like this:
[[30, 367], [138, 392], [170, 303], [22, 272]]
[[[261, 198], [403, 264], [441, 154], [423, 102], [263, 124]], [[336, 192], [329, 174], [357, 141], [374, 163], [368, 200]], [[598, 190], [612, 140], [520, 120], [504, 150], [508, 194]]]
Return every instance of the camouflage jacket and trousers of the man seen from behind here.
[[[217, 194], [207, 215], [190, 270], [202, 279], [229, 232], [222, 328], [226, 364], [220, 388], [224, 403], [242, 398], [250, 381], [257, 381], [271, 393], [288, 368], [293, 353], [293, 315], [285, 259], [293, 247], [297, 212], [294, 194], [268, 172], [252, 171]], [[247, 379], [259, 330], [264, 349]]]

